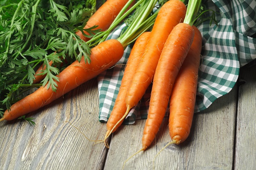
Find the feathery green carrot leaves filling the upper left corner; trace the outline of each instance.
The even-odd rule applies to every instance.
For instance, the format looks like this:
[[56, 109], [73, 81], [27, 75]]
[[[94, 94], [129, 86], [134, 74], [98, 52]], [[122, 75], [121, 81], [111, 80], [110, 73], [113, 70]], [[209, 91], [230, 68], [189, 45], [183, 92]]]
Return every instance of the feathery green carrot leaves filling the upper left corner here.
[[[90, 62], [90, 47], [76, 31], [83, 31], [95, 10], [96, 0], [0, 1], [0, 116], [31, 88], [47, 85], [56, 90], [64, 59], [70, 64], [84, 55]], [[91, 37], [99, 32], [88, 30]], [[42, 63], [46, 77], [33, 85]]]

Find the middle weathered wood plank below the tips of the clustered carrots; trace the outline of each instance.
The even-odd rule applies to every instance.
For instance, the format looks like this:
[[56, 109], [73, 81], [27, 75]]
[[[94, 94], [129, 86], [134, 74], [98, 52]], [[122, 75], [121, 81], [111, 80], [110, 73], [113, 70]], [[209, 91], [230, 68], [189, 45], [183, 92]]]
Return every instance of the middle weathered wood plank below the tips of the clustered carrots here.
[[[207, 110], [196, 113], [189, 138], [180, 145], [169, 145], [155, 159], [157, 170], [224, 169], [233, 166], [236, 121], [236, 87], [217, 99]], [[124, 161], [141, 147], [145, 120], [119, 128], [113, 134], [105, 170], [119, 170]], [[170, 141], [165, 118], [156, 141], [145, 152], [125, 164], [127, 170], [152, 169], [154, 156]]]

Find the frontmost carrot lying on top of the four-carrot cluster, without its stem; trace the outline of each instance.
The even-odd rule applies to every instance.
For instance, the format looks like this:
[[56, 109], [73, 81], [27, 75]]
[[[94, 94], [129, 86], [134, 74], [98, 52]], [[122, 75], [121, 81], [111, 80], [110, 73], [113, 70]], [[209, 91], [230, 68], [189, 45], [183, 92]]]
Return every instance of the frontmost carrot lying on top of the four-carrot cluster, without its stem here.
[[148, 118], [143, 130], [143, 148], [154, 140], [168, 108], [172, 86], [194, 38], [194, 29], [186, 23], [173, 28], [157, 64], [148, 109]]

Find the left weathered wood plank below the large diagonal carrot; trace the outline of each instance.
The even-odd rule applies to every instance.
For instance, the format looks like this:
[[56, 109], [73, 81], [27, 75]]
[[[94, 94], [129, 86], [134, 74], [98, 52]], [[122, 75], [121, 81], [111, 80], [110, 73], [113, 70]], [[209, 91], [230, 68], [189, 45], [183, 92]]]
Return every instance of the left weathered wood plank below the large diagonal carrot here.
[[102, 169], [107, 149], [82, 134], [89, 139], [104, 137], [98, 101], [93, 79], [30, 114], [35, 126], [24, 121], [0, 122], [0, 169]]

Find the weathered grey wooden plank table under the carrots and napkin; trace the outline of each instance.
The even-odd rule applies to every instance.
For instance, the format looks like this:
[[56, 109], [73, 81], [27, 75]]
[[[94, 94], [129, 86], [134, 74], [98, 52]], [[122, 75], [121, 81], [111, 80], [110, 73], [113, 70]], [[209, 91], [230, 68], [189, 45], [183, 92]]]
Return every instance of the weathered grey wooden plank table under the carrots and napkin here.
[[[155, 159], [156, 170], [253, 170], [256, 167], [256, 66], [244, 67], [233, 90], [196, 113], [189, 138], [169, 145]], [[92, 79], [51, 105], [21, 120], [0, 122], [0, 169], [120, 170], [141, 147], [145, 120], [122, 125], [108, 141], [98, 120], [97, 81]], [[66, 122], [68, 121], [68, 122]], [[71, 125], [70, 125], [70, 123]], [[86, 137], [85, 137], [86, 136]], [[156, 154], [170, 141], [168, 118], [155, 142], [125, 164], [125, 170], [151, 170]]]

